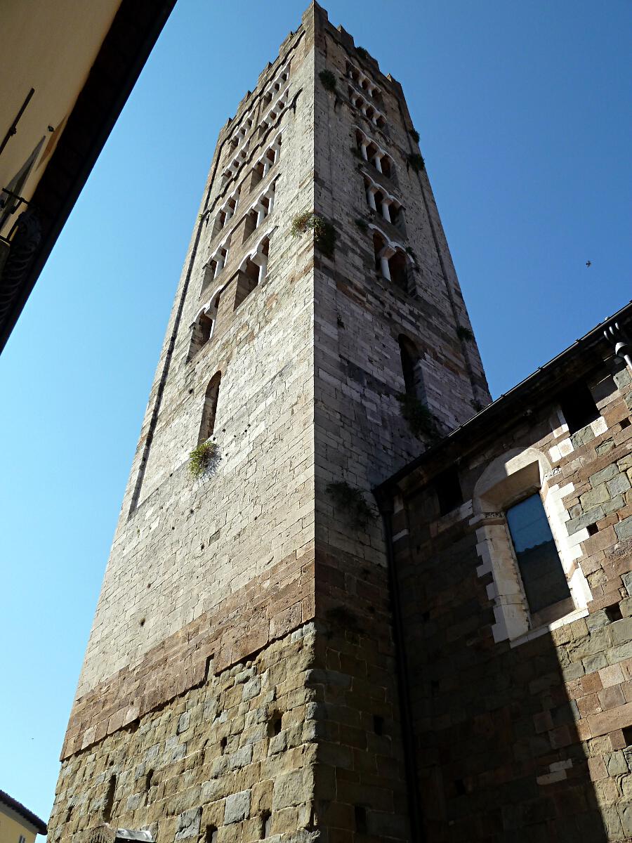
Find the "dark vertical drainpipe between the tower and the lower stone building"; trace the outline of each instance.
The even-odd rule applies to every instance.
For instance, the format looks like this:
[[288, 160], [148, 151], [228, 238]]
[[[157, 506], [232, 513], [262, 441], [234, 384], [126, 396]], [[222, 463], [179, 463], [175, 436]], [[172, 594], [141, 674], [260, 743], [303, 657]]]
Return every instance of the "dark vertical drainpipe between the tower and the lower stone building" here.
[[402, 724], [402, 743], [404, 744], [404, 774], [406, 776], [406, 790], [410, 817], [411, 843], [425, 843], [423, 813], [419, 802], [419, 780], [415, 763], [415, 731], [410, 706], [408, 664], [406, 662], [406, 648], [404, 643], [404, 624], [402, 622], [401, 605], [399, 603], [399, 588], [395, 573], [393, 556], [393, 514], [392, 493], [380, 494], [378, 508], [384, 525], [384, 539], [386, 540], [386, 557], [388, 566], [388, 596], [393, 613], [393, 634], [395, 642], [395, 669], [397, 672], [397, 692], [399, 695], [399, 717]]

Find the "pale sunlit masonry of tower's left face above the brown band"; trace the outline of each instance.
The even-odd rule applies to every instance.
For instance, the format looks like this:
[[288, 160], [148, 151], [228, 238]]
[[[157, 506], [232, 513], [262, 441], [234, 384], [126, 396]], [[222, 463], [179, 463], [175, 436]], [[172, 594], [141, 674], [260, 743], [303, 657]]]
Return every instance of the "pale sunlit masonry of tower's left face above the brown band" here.
[[[310, 255], [297, 255], [289, 235], [297, 196], [310, 196], [313, 55], [305, 27], [281, 46], [253, 94], [222, 129], [185, 262], [163, 353], [147, 406], [78, 685], [78, 699], [265, 574], [281, 560], [292, 565], [313, 548], [313, 281]], [[290, 64], [294, 101], [276, 126], [259, 131], [262, 97], [281, 67]], [[303, 93], [301, 93], [303, 92]], [[249, 115], [248, 157], [223, 182], [229, 140]], [[265, 282], [233, 309], [239, 262], [253, 238], [231, 244], [226, 266], [201, 293], [209, 244], [217, 242], [217, 207], [242, 185], [240, 225], [248, 210], [252, 161], [270, 132], [281, 129], [281, 158]], [[257, 185], [259, 187], [259, 185]], [[257, 188], [253, 190], [256, 191]], [[206, 213], [206, 210], [209, 212]], [[254, 235], [253, 235], [254, 236]], [[191, 325], [222, 285], [216, 330], [189, 358]], [[213, 440], [218, 458], [200, 481], [189, 475], [198, 442], [206, 386], [222, 381]], [[291, 561], [288, 561], [291, 560]]]

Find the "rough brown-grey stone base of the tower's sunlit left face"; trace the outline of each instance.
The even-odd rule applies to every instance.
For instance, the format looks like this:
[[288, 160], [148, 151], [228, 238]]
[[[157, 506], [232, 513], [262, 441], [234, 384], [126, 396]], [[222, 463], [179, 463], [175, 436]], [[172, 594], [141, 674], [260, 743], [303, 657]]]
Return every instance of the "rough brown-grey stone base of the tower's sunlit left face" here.
[[310, 840], [315, 648], [313, 624], [298, 626], [65, 760], [49, 839], [109, 820], [149, 829], [158, 843], [210, 841], [213, 830], [217, 843]]

